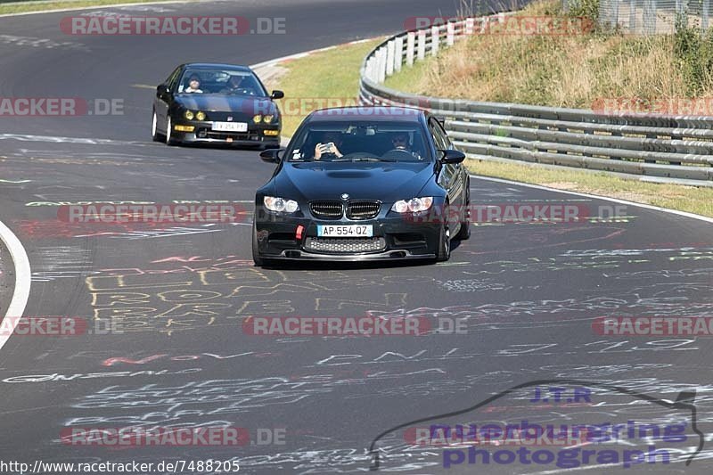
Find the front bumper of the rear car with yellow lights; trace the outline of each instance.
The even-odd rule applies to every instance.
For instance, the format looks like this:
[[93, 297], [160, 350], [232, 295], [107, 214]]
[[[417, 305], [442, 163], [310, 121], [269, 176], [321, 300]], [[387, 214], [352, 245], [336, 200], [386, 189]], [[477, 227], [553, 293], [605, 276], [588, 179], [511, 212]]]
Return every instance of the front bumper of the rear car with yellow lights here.
[[[280, 126], [278, 124], [248, 125], [247, 132], [224, 132], [212, 130], [212, 122], [198, 120], [179, 120], [173, 124], [172, 137], [181, 143], [219, 143], [234, 146], [280, 146]], [[193, 131], [176, 130], [176, 127], [193, 127]], [[272, 132], [277, 135], [266, 135]]]

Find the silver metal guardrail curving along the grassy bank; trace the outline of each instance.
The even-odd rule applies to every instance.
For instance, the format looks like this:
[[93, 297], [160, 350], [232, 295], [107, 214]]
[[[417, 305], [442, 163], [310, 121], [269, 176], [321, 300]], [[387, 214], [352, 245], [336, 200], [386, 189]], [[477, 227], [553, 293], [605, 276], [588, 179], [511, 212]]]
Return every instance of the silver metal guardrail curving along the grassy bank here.
[[406, 31], [378, 45], [361, 68], [364, 104], [428, 109], [455, 145], [480, 160], [521, 160], [713, 185], [713, 117], [602, 114], [591, 110], [474, 102], [408, 94], [387, 77], [444, 46], [503, 22], [505, 13]]

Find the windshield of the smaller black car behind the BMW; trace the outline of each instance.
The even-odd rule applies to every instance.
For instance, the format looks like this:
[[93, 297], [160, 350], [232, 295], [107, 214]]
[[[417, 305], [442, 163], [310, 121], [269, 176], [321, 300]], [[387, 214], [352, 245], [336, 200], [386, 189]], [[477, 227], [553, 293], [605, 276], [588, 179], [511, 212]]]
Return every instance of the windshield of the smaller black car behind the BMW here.
[[176, 93], [267, 95], [258, 78], [250, 71], [204, 69], [185, 70]]

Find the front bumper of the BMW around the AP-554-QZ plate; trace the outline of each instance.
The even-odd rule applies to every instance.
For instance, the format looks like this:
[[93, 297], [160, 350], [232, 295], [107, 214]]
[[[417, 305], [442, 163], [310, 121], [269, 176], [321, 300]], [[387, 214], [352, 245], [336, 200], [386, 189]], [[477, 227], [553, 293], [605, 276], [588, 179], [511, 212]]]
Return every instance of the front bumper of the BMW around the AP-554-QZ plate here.
[[[304, 226], [301, 239], [297, 239], [299, 225]], [[372, 225], [373, 238], [318, 238], [317, 225]], [[409, 222], [400, 216], [368, 220], [320, 220], [314, 217], [278, 216], [264, 209], [256, 213], [255, 229], [260, 257], [287, 260], [366, 261], [436, 258], [440, 234], [438, 224]], [[373, 245], [367, 241], [372, 242]], [[361, 243], [365, 243], [366, 246], [362, 246]], [[362, 247], [372, 249], [350, 250]]]

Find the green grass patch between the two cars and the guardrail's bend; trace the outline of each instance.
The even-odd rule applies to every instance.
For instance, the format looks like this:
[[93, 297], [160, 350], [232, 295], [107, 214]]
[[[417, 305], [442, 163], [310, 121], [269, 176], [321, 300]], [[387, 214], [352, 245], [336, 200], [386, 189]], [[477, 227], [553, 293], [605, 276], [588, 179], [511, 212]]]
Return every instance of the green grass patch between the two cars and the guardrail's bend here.
[[[340, 45], [281, 64], [288, 71], [275, 88], [285, 98], [278, 101], [283, 111], [283, 135], [292, 135], [302, 119], [314, 108], [356, 104], [359, 96], [359, 68], [365, 56], [382, 40], [358, 45]], [[273, 85], [271, 85], [273, 86]]]

